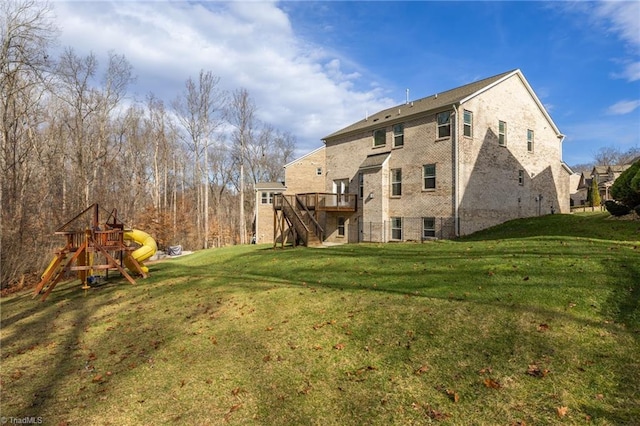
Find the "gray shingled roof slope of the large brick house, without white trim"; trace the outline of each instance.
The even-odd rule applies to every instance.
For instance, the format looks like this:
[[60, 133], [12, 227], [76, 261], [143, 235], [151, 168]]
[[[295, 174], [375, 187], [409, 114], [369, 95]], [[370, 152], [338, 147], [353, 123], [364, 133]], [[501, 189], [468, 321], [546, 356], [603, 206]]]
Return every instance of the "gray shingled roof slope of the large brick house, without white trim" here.
[[428, 111], [434, 111], [440, 108], [447, 107], [449, 105], [453, 105], [516, 71], [518, 70], [507, 71], [493, 77], [485, 78], [484, 80], [475, 81], [473, 83], [465, 84], [464, 86], [460, 86], [455, 89], [447, 90], [446, 92], [437, 93], [431, 96], [427, 96], [426, 98], [411, 101], [408, 104], [404, 103], [396, 105], [394, 107], [370, 115], [369, 117], [353, 123], [341, 130], [338, 130], [337, 132], [334, 132], [329, 136], [324, 137], [323, 139], [331, 139], [337, 136], [345, 135], [347, 133], [361, 131], [369, 128], [379, 128], [382, 126], [386, 126], [387, 123], [406, 120], [407, 117], [413, 115], [425, 113]]

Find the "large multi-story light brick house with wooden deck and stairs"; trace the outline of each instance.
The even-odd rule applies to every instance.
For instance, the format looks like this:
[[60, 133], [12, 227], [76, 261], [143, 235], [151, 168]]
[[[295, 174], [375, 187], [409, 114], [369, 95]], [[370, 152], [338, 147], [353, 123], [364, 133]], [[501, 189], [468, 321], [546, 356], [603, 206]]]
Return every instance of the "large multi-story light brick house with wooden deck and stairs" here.
[[300, 184], [302, 166], [285, 170], [276, 234], [419, 241], [568, 213], [563, 139], [520, 70], [407, 102], [324, 138], [323, 189]]

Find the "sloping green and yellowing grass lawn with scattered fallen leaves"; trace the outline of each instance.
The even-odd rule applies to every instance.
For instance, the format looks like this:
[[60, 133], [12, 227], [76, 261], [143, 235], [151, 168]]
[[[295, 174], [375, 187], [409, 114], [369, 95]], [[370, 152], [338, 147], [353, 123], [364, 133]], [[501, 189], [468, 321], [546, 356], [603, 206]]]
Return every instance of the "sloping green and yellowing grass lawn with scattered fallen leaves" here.
[[[205, 250], [1, 301], [2, 413], [45, 424], [634, 424], [640, 222]], [[637, 424], [637, 423], [636, 423]]]

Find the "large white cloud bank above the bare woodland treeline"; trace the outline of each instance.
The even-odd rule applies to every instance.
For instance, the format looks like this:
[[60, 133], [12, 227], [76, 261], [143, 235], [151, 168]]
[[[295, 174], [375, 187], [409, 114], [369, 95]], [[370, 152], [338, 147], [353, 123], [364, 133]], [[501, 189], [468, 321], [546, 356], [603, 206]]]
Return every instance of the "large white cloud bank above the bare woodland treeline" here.
[[[394, 102], [356, 66], [296, 38], [273, 2], [56, 2], [61, 44], [98, 58], [113, 50], [134, 67], [139, 97], [174, 99], [201, 69], [222, 89], [245, 88], [258, 117], [298, 138], [320, 138]], [[348, 68], [348, 69], [345, 69]]]

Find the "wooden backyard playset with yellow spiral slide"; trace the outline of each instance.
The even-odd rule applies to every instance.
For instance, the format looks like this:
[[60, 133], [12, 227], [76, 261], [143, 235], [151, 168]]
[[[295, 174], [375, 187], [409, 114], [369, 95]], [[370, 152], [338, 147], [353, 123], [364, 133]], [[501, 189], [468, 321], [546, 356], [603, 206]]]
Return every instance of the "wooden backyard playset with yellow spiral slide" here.
[[[103, 221], [100, 220], [101, 211], [107, 214]], [[89, 284], [103, 274], [108, 278], [111, 270], [119, 271], [127, 281], [135, 284], [123, 266], [132, 274], [147, 278], [149, 268], [143, 262], [157, 250], [153, 237], [138, 229], [125, 229], [115, 209], [111, 212], [101, 210], [98, 204], [83, 210], [58, 228], [55, 234], [63, 235], [66, 244], [56, 250], [34, 290], [34, 298], [44, 292], [42, 301], [60, 281], [72, 278], [74, 272], [84, 290], [91, 288]]]

